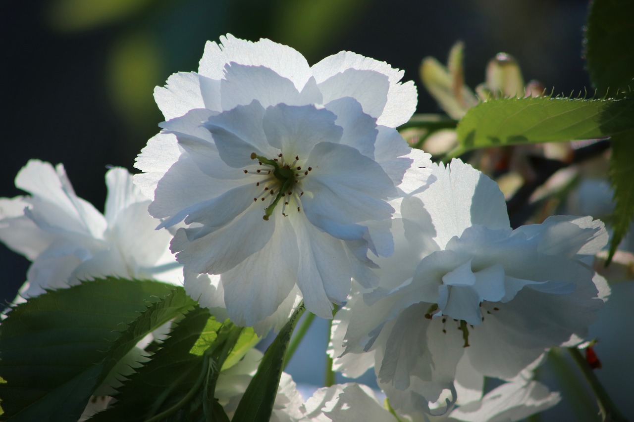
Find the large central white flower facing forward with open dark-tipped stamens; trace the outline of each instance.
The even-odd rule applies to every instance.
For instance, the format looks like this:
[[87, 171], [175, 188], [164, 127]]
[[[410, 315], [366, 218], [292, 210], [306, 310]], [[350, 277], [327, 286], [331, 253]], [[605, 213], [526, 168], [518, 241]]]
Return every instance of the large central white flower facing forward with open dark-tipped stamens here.
[[[394, 129], [416, 105], [403, 72], [342, 52], [313, 67], [292, 48], [231, 35], [198, 73], [155, 98], [169, 119], [139, 155], [135, 183], [171, 243], [185, 287], [240, 325], [277, 329], [303, 297], [331, 317], [368, 257], [392, 253], [388, 198], [430, 164]], [[424, 177], [426, 169], [420, 170]], [[224, 297], [223, 297], [224, 295]]]

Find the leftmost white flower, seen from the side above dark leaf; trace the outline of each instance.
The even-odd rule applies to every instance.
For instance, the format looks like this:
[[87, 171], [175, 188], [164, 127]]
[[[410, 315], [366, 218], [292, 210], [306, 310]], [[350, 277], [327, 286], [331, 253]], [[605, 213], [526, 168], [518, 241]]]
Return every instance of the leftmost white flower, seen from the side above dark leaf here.
[[22, 297], [101, 276], [181, 281], [168, 248], [172, 236], [154, 230], [150, 200], [127, 170], [108, 170], [106, 184], [102, 215], [75, 195], [61, 164], [30, 160], [20, 170], [15, 185], [31, 195], [0, 199], [0, 240], [33, 262]]

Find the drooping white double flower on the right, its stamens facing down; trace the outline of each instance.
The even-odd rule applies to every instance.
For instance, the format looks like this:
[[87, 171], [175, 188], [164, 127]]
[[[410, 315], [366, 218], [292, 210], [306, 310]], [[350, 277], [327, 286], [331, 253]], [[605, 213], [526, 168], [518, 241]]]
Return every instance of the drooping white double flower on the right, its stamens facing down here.
[[335, 356], [347, 353], [336, 368], [358, 376], [374, 365], [405, 414], [432, 412], [439, 399], [448, 406], [433, 413], [446, 411], [463, 358], [508, 380], [547, 348], [578, 341], [609, 293], [587, 262], [607, 241], [601, 222], [556, 216], [512, 230], [488, 177], [459, 160], [434, 176], [401, 203], [379, 287], [354, 293], [333, 328]]

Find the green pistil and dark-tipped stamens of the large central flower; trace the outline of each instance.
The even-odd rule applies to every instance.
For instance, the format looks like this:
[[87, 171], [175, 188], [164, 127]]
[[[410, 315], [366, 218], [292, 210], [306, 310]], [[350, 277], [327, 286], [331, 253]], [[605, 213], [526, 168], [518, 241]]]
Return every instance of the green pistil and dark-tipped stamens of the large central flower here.
[[[302, 173], [301, 165], [297, 165], [297, 162], [299, 162], [299, 157], [297, 156], [295, 156], [295, 160], [290, 163], [285, 162], [281, 153], [278, 154], [278, 158], [273, 158], [273, 160], [257, 155], [256, 153], [251, 153], [250, 157], [252, 160], [257, 160], [259, 165], [268, 167], [256, 170], [257, 174], [266, 176], [263, 182], [264, 191], [262, 191], [260, 199], [264, 201], [267, 195], [274, 196], [273, 200], [264, 210], [262, 219], [268, 221], [269, 217], [273, 214], [273, 210], [275, 210], [275, 207], [282, 200], [281, 214], [283, 216], [288, 217], [285, 211], [287, 205], [290, 205], [290, 201], [295, 201], [297, 204], [297, 212], [301, 212], [301, 201], [299, 198], [304, 195], [304, 192], [301, 191], [298, 186], [299, 181], [308, 176], [308, 173], [313, 169], [308, 167], [308, 169]], [[247, 173], [249, 170], [244, 170], [244, 172]], [[257, 186], [260, 186], [260, 182], [257, 182]], [[257, 198], [253, 199], [257, 201]]]

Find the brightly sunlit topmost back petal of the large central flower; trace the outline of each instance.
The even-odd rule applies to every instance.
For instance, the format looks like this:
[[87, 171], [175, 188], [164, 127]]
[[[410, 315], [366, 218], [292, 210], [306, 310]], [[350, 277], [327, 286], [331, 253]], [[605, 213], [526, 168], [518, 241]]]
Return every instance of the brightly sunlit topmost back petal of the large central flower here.
[[292, 80], [301, 91], [311, 77], [310, 68], [301, 53], [269, 39], [257, 42], [238, 39], [231, 34], [220, 37], [221, 44], [207, 41], [205, 52], [200, 59], [198, 73], [211, 79], [223, 79], [225, 63], [240, 65], [262, 65], [272, 69], [282, 77]]

